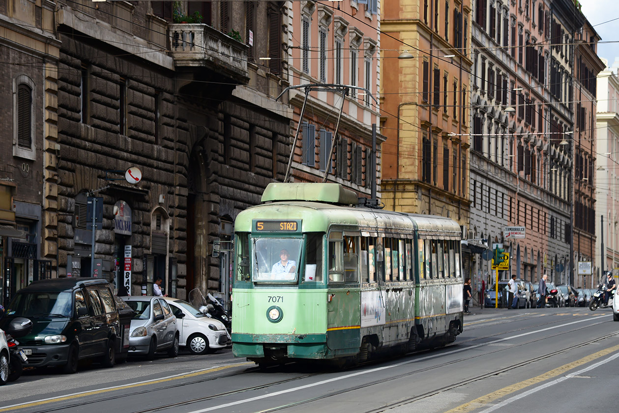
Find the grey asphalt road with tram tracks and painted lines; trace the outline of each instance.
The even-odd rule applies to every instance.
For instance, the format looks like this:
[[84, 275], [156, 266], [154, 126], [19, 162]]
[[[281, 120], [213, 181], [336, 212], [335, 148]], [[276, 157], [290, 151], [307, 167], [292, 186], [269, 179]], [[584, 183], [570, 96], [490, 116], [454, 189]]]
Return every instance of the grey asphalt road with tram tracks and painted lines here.
[[451, 346], [350, 368], [260, 370], [226, 349], [74, 375], [26, 372], [0, 388], [0, 412], [617, 410], [619, 323], [609, 309], [473, 311]]

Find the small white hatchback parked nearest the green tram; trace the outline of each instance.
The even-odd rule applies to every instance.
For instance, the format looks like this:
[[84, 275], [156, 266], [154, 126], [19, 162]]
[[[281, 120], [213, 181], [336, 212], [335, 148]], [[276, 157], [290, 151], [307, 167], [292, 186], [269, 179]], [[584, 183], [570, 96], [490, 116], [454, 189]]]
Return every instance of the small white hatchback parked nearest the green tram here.
[[179, 346], [186, 346], [193, 354], [206, 354], [227, 346], [230, 336], [221, 321], [208, 317], [186, 301], [163, 299], [178, 318]]

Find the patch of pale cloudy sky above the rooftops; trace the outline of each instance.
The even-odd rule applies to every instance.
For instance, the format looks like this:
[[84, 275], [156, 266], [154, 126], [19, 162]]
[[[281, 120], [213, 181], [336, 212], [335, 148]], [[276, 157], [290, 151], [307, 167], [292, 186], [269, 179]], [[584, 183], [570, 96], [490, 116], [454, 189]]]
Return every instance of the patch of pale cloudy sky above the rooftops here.
[[[619, 1], [618, 0], [579, 0], [582, 14], [600, 35], [602, 41], [597, 45], [597, 55], [607, 59], [608, 65], [619, 57]], [[617, 20], [613, 20], [617, 19]], [[608, 22], [608, 20], [613, 20]], [[608, 23], [604, 23], [608, 22]], [[604, 23], [604, 24], [600, 24]], [[604, 43], [611, 42], [611, 43]]]

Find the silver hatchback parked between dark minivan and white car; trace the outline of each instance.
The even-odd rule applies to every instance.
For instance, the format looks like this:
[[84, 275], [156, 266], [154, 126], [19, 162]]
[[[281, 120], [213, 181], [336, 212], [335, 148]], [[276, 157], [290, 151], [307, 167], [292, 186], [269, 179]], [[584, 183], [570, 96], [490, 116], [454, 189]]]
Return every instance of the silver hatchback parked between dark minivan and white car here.
[[158, 351], [178, 356], [180, 334], [176, 317], [163, 297], [123, 297], [136, 314], [131, 319], [129, 355], [142, 355], [153, 360]]

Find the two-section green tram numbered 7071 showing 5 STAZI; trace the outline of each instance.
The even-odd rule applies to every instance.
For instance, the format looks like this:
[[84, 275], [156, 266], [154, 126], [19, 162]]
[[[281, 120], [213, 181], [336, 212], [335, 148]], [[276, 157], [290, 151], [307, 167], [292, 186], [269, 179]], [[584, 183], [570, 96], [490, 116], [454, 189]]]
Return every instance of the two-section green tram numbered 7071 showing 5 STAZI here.
[[358, 205], [340, 184], [269, 184], [235, 221], [232, 351], [260, 365], [444, 346], [462, 332], [461, 229]]

